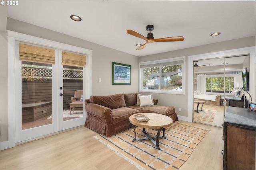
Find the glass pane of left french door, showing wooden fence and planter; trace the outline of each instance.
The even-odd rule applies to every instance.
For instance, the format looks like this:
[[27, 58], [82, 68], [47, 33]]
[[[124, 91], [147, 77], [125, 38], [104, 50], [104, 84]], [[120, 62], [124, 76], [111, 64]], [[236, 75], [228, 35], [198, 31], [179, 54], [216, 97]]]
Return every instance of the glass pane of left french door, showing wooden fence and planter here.
[[22, 130], [52, 124], [52, 64], [22, 61]]

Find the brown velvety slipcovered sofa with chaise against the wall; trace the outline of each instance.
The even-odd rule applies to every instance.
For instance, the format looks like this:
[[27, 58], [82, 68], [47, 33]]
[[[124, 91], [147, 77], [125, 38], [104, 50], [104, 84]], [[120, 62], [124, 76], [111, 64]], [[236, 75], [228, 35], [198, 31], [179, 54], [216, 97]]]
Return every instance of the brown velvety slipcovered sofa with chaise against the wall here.
[[132, 127], [129, 117], [135, 113], [159, 113], [178, 121], [174, 107], [157, 106], [158, 100], [154, 100], [154, 106], [138, 106], [137, 94], [141, 93], [90, 96], [85, 100], [85, 126], [110, 137]]

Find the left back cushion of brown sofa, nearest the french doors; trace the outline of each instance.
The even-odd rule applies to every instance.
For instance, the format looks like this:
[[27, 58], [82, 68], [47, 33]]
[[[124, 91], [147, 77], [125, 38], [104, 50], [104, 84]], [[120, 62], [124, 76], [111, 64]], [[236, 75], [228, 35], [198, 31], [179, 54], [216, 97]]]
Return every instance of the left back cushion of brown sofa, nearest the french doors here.
[[115, 94], [110, 96], [90, 96], [90, 103], [99, 104], [110, 109], [126, 107], [124, 94]]

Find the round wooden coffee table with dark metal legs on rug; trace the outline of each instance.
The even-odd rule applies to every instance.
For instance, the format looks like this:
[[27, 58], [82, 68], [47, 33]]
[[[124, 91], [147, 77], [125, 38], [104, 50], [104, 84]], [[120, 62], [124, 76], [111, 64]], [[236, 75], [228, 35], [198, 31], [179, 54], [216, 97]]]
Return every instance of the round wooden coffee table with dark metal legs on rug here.
[[[134, 129], [134, 139], [132, 141], [134, 142], [134, 141], [141, 141], [141, 140], [150, 139], [150, 141], [152, 141], [152, 143], [154, 143], [154, 145], [156, 145], [157, 149], [160, 149], [159, 139], [160, 138], [166, 138], [164, 136], [164, 131], [165, 131], [166, 127], [169, 127], [170, 125], [172, 125], [172, 118], [170, 118], [166, 115], [158, 114], [158, 113], [138, 113], [138, 114], [145, 115], [150, 120], [149, 121], [144, 121], [144, 122], [139, 122], [139, 121], [137, 121], [137, 119], [134, 115], [131, 115], [129, 117], [130, 123], [132, 123], [133, 129]], [[135, 114], [135, 115], [138, 115], [138, 114]], [[143, 128], [142, 132], [146, 135], [146, 138], [136, 139], [136, 131], [135, 131], [134, 125]], [[148, 128], [148, 129], [158, 129], [156, 137], [150, 137], [148, 135], [148, 133], [146, 132], [146, 128]], [[162, 129], [163, 129], [163, 135], [162, 135], [162, 137], [160, 137], [160, 132], [161, 132]], [[154, 141], [154, 139], [156, 139], [156, 141]]]

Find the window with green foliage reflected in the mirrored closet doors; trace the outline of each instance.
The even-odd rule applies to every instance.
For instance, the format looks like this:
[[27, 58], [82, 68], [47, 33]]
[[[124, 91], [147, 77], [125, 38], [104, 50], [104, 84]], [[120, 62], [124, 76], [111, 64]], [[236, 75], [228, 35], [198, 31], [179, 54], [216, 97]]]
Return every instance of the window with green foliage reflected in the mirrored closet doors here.
[[[234, 77], [225, 77], [225, 92], [230, 93], [234, 89]], [[224, 77], [210, 75], [206, 77], [206, 92], [223, 93], [224, 91]]]

